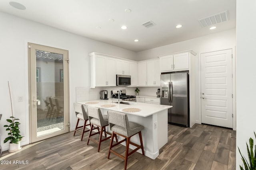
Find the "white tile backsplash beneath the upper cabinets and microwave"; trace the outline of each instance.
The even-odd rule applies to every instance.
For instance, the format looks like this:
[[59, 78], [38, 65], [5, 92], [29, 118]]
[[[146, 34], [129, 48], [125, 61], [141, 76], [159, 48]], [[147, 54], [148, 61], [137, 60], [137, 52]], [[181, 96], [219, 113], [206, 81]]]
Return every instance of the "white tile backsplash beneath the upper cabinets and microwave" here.
[[[145, 96], [156, 96], [157, 89], [160, 87], [138, 87], [140, 90], [139, 95]], [[108, 90], [108, 98], [111, 98], [112, 90], [126, 90], [127, 95], [136, 95], [134, 91], [136, 87], [124, 87], [124, 86], [114, 86], [114, 87], [76, 87], [76, 102], [88, 101], [88, 100], [98, 100], [100, 99], [100, 91]]]

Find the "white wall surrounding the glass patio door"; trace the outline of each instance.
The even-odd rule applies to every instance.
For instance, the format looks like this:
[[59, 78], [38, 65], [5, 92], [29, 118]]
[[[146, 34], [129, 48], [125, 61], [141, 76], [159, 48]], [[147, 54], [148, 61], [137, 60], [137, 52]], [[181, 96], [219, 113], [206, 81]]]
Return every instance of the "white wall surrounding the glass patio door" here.
[[[88, 54], [98, 52], [131, 60], [135, 60], [136, 57], [132, 51], [2, 12], [0, 12], [0, 21], [0, 113], [3, 114], [0, 121], [0, 131], [3, 150], [8, 149], [8, 143], [3, 143], [7, 136], [3, 125], [6, 124], [6, 119], [11, 116], [8, 80], [12, 90], [14, 116], [20, 118], [20, 131], [25, 136], [22, 139], [22, 145], [29, 143], [28, 42], [69, 51], [71, 127], [74, 127], [76, 123], [73, 109], [73, 102], [76, 101], [76, 87], [90, 86]], [[18, 102], [18, 96], [23, 97], [23, 102]]]

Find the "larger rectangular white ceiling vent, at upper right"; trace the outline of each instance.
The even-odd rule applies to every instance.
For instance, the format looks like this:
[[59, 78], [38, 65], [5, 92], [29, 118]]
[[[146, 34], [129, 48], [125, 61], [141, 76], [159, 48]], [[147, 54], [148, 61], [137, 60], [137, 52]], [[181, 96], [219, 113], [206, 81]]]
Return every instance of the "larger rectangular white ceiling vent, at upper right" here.
[[202, 27], [208, 27], [210, 25], [215, 25], [217, 23], [222, 23], [228, 21], [228, 11], [220, 12], [206, 18], [198, 20]]

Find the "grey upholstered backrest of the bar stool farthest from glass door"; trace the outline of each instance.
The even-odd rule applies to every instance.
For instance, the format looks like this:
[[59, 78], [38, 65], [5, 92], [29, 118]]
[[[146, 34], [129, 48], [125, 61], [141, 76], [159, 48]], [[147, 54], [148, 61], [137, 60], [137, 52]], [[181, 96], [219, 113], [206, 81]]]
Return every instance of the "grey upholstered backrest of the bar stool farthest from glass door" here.
[[118, 125], [123, 128], [126, 133], [126, 136], [129, 136], [130, 132], [130, 124], [128, 117], [125, 113], [121, 113], [118, 111], [108, 110], [108, 122], [110, 126], [110, 130], [114, 125]]

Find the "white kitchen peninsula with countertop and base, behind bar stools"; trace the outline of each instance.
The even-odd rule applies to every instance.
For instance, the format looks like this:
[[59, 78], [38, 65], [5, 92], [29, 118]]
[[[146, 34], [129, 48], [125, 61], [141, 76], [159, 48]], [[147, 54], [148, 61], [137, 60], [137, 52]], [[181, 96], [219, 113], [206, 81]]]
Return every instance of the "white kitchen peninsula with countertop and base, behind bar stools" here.
[[[172, 106], [146, 104], [137, 102], [126, 102], [126, 104], [114, 103], [116, 100], [91, 100], [78, 102], [86, 106], [98, 107], [101, 109], [102, 114], [107, 114], [108, 110], [119, 111], [126, 113], [129, 121], [139, 123], [144, 126], [142, 130], [142, 140], [144, 146], [145, 156], [156, 159], [159, 155], [159, 149], [162, 148], [168, 141], [168, 108]], [[114, 107], [106, 107], [114, 105]], [[140, 111], [126, 112], [123, 109], [137, 108]], [[110, 132], [110, 130], [108, 129]], [[122, 137], [118, 137], [118, 140], [122, 140]], [[135, 135], [131, 138], [131, 141], [139, 144], [139, 137]], [[125, 143], [122, 143], [125, 145]], [[135, 147], [130, 145], [131, 149]], [[141, 149], [137, 152], [141, 153]]]

